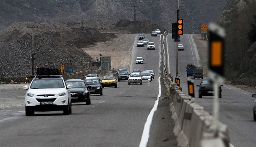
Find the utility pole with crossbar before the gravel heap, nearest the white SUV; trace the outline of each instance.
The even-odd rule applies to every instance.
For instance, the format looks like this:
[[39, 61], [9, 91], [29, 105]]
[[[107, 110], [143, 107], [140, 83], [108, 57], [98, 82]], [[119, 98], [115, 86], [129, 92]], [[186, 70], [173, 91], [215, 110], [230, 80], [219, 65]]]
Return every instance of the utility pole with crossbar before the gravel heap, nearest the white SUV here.
[[34, 43], [34, 28], [37, 28], [38, 26], [32, 25], [30, 27], [27, 28], [32, 28], [32, 39], [31, 39], [31, 50], [30, 50], [30, 54], [29, 54], [29, 60], [30, 60], [30, 66], [29, 66], [29, 75], [33, 76], [35, 75], [35, 58], [36, 58], [36, 52], [35, 52], [35, 43]]

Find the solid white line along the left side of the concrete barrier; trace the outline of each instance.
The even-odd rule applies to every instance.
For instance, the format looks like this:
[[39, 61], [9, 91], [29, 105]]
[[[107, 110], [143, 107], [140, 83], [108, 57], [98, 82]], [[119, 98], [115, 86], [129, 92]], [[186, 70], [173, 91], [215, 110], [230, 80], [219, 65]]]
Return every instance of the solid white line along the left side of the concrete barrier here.
[[[161, 36], [160, 36], [160, 39], [161, 39]], [[161, 46], [159, 48], [159, 66], [160, 66], [160, 64], [161, 64]], [[161, 73], [161, 69], [159, 69], [159, 73]], [[161, 74], [159, 75], [159, 78], [158, 78], [158, 85], [159, 85], [158, 86], [158, 90], [159, 90], [159, 93], [158, 93], [155, 105], [152, 108], [152, 110], [150, 111], [150, 113], [149, 113], [149, 115], [147, 117], [147, 121], [146, 121], [146, 123], [144, 125], [144, 129], [143, 129], [143, 133], [142, 133], [142, 136], [141, 136], [139, 147], [146, 147], [147, 146], [147, 142], [148, 142], [148, 138], [149, 138], [150, 125], [152, 123], [153, 115], [154, 115], [154, 113], [155, 113], [155, 111], [157, 109], [157, 106], [158, 106], [159, 97], [161, 96], [160, 78], [161, 78]]]

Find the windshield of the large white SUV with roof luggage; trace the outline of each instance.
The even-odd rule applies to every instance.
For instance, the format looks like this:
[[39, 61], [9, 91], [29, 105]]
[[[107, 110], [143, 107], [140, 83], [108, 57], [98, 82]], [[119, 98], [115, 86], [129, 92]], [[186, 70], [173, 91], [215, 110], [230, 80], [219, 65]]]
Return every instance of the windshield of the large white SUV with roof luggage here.
[[42, 88], [64, 88], [64, 83], [60, 78], [40, 78], [34, 79], [30, 88], [42, 89]]

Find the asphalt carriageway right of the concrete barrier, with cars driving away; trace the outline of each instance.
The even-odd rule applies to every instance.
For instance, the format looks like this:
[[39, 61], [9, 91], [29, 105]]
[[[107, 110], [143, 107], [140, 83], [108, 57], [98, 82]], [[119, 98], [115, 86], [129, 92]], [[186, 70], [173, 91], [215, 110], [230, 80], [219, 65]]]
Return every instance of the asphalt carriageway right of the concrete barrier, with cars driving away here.
[[[168, 69], [174, 77], [176, 76], [176, 42], [168, 35], [167, 45], [170, 59], [170, 68]], [[180, 76], [180, 86], [183, 92], [188, 95], [188, 87], [186, 77], [186, 65], [193, 63], [198, 67], [196, 60], [196, 52], [191, 39], [191, 35], [181, 35], [181, 41], [184, 51], [178, 51], [178, 76]], [[207, 53], [205, 53], [207, 54]], [[204, 75], [207, 78], [208, 75]], [[201, 79], [195, 79], [195, 102], [203, 106], [204, 109], [212, 113], [213, 96], [203, 96], [198, 98], [198, 87]], [[240, 90], [234, 86], [223, 84], [222, 98], [219, 99], [219, 119], [220, 122], [226, 124], [229, 129], [230, 143], [235, 147], [252, 147], [256, 145], [255, 130], [256, 122], [253, 121], [253, 102], [252, 93]], [[213, 113], [212, 113], [213, 114]]]

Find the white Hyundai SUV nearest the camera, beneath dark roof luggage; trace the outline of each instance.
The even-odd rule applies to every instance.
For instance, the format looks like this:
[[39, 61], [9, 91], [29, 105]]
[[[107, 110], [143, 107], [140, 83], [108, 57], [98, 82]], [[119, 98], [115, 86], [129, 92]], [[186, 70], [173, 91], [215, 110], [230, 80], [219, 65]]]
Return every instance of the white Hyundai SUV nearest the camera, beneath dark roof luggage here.
[[25, 95], [26, 116], [34, 115], [35, 111], [63, 111], [65, 115], [71, 114], [71, 94], [62, 75], [35, 76], [28, 86]]

